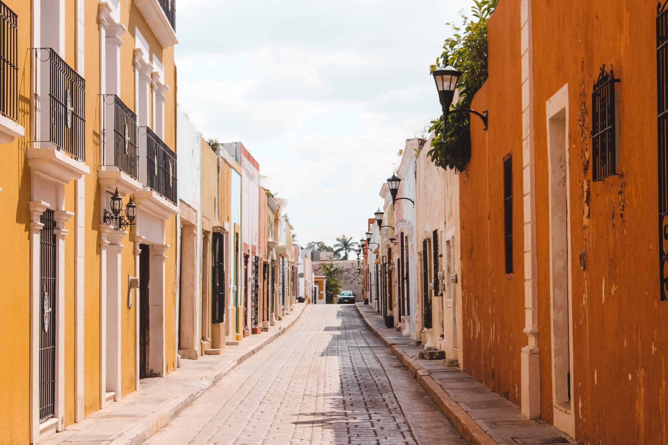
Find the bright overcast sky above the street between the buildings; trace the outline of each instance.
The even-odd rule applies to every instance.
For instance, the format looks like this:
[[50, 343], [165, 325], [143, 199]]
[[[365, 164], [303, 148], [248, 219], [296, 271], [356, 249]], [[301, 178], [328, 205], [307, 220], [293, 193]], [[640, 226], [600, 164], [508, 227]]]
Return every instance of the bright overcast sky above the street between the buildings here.
[[470, 0], [182, 0], [178, 101], [242, 141], [299, 244], [363, 237], [405, 139], [440, 105], [429, 65]]

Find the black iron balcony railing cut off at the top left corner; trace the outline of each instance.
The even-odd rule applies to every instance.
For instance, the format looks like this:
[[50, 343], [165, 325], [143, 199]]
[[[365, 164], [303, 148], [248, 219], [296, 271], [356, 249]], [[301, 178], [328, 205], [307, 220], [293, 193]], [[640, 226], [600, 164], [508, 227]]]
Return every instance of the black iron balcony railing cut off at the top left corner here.
[[18, 18], [0, 1], [0, 114], [13, 121], [18, 116]]

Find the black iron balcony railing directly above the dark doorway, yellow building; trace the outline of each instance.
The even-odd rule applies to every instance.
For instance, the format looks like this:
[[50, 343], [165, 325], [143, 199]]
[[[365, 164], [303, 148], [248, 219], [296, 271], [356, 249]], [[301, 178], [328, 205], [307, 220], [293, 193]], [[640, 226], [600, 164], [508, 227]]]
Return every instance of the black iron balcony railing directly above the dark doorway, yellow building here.
[[146, 131], [146, 181], [148, 187], [176, 204], [176, 153], [149, 127]]

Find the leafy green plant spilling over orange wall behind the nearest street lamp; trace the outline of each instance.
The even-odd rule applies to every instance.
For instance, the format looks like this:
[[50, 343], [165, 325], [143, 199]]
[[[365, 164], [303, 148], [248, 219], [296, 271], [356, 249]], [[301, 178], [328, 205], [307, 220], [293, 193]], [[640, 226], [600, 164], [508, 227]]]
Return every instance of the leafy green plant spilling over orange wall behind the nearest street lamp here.
[[[460, 101], [453, 108], [470, 108], [476, 92], [488, 77], [487, 71], [487, 21], [494, 12], [498, 0], [474, 0], [474, 19], [462, 15], [462, 27], [453, 26], [454, 35], [446, 39], [436, 64], [430, 73], [442, 65], [452, 65], [462, 71], [459, 79]], [[432, 121], [429, 131], [434, 131], [432, 147], [427, 154], [432, 162], [444, 169], [464, 171], [471, 159], [470, 115], [454, 113], [448, 115], [448, 125], [443, 127], [443, 115]]]

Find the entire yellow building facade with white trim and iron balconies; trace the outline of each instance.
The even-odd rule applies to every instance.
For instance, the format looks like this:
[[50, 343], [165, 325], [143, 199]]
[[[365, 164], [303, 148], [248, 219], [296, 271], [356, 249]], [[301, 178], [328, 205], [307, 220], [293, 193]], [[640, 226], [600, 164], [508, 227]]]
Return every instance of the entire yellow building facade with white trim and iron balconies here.
[[0, 2], [2, 444], [176, 366], [173, 6]]

